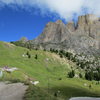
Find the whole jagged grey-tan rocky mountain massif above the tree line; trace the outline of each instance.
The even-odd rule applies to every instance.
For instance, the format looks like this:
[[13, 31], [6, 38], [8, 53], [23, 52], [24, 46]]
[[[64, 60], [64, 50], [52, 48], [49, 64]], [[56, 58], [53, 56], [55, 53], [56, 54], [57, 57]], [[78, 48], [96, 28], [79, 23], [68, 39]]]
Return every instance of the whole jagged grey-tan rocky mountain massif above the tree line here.
[[88, 14], [79, 16], [77, 24], [71, 21], [65, 25], [61, 20], [49, 22], [43, 33], [31, 43], [41, 49], [100, 54], [100, 18]]

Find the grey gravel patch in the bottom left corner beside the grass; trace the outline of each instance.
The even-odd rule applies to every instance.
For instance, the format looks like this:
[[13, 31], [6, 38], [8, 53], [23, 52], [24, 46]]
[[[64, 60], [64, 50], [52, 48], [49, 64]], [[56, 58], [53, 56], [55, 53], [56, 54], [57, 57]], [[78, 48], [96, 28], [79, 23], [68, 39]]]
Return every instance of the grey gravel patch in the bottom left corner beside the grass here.
[[0, 100], [23, 100], [28, 86], [22, 83], [5, 84], [0, 83]]

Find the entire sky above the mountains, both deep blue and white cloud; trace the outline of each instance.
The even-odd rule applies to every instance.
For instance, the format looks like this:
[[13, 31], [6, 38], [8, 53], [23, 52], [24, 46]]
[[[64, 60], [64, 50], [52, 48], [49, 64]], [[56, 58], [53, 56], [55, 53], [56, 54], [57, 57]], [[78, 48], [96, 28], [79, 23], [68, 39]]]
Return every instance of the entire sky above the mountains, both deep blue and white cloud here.
[[100, 0], [0, 0], [0, 40], [34, 39], [49, 21], [100, 16]]

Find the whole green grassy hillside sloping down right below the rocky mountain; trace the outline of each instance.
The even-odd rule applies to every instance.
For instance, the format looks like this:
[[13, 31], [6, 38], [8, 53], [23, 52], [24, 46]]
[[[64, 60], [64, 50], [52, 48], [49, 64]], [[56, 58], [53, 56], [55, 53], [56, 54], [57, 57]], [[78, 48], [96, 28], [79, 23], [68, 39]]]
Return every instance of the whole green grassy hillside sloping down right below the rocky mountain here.
[[[28, 57], [27, 52], [31, 55]], [[68, 78], [69, 71], [84, 74], [84, 70], [67, 58], [60, 58], [55, 53], [42, 50], [28, 50], [10, 43], [0, 42], [0, 68], [16, 67], [17, 71], [4, 72], [1, 81], [39, 81], [36, 86], [30, 85], [26, 100], [65, 100], [70, 97], [100, 97], [100, 84], [80, 78]], [[86, 84], [86, 86], [85, 86]], [[89, 86], [92, 85], [90, 89]], [[60, 91], [59, 94], [57, 91]]]

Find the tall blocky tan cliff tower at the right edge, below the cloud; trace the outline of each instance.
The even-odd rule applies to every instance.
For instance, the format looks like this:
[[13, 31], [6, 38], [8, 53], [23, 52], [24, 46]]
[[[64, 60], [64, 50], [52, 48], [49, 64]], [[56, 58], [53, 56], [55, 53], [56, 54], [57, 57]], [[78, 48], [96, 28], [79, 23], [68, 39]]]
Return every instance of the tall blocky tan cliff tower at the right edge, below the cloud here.
[[77, 30], [79, 34], [98, 38], [100, 35], [100, 21], [95, 15], [85, 15], [78, 18]]

